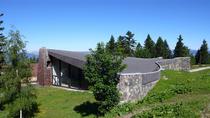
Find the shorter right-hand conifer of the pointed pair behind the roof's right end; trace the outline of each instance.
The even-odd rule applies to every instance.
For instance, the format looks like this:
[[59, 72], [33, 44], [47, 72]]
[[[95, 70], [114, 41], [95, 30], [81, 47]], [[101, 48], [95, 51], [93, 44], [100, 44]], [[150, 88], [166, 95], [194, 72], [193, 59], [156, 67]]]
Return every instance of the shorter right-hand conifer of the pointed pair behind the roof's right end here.
[[155, 44], [155, 49], [156, 49], [156, 57], [163, 57], [164, 56], [164, 42], [161, 37], [158, 38], [156, 44]]

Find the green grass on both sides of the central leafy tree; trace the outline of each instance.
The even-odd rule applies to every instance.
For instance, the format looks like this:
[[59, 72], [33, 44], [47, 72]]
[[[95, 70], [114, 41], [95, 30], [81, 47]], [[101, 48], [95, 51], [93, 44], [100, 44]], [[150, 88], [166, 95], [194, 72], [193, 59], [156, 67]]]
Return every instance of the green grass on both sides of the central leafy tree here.
[[[161, 80], [141, 101], [116, 106], [104, 117], [201, 117], [210, 114], [210, 70], [195, 73], [163, 71]], [[92, 93], [38, 87], [37, 118], [94, 118], [97, 105]], [[0, 118], [6, 112], [0, 112]]]

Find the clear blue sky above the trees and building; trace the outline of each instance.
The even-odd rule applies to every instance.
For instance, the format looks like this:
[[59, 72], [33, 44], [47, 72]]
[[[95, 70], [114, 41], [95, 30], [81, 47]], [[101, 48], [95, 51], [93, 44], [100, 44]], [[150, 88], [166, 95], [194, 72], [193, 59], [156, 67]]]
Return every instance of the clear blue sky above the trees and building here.
[[0, 12], [5, 34], [14, 25], [29, 51], [87, 51], [128, 30], [141, 44], [150, 34], [172, 49], [179, 34], [191, 49], [210, 43], [210, 0], [1, 0]]

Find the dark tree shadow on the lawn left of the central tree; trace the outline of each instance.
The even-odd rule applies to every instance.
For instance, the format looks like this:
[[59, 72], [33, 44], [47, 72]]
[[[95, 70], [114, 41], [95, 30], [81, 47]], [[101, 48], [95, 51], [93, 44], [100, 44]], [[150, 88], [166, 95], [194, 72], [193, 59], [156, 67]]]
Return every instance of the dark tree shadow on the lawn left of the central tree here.
[[99, 116], [98, 103], [86, 101], [78, 106], [74, 107], [74, 111], [80, 113], [83, 117], [89, 115]]

